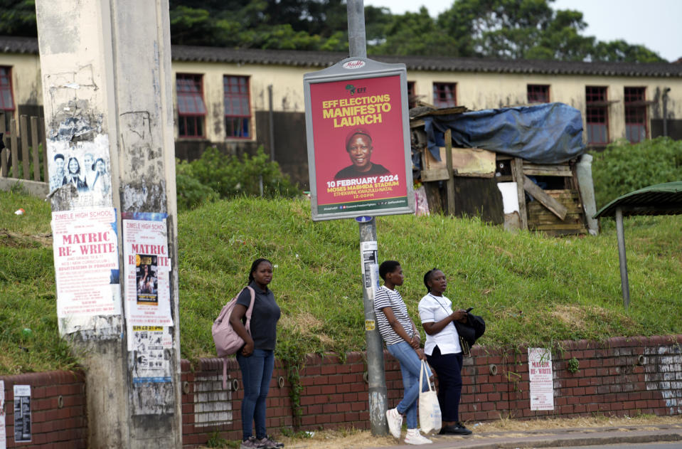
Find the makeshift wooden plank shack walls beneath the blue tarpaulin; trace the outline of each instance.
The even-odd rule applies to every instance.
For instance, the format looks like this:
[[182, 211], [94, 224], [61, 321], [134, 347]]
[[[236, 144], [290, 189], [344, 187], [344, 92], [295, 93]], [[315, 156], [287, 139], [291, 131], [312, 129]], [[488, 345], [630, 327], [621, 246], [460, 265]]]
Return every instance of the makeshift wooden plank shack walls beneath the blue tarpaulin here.
[[[427, 114], [464, 110], [456, 107]], [[415, 178], [424, 186], [431, 212], [479, 216], [508, 229], [541, 231], [550, 236], [587, 233], [575, 159], [540, 165], [484, 148], [453, 148], [448, 130], [438, 161], [427, 149], [424, 115], [412, 117], [410, 129], [412, 153], [420, 160]], [[505, 213], [502, 191], [510, 188], [516, 190], [518, 208]]]

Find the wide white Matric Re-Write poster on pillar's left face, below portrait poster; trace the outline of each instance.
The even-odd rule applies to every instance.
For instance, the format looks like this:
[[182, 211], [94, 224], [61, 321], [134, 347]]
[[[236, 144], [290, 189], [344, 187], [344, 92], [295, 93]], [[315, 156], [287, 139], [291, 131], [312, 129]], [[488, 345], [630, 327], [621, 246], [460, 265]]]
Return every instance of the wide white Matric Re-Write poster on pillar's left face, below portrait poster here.
[[61, 334], [96, 315], [120, 315], [119, 253], [114, 208], [52, 213], [57, 316]]

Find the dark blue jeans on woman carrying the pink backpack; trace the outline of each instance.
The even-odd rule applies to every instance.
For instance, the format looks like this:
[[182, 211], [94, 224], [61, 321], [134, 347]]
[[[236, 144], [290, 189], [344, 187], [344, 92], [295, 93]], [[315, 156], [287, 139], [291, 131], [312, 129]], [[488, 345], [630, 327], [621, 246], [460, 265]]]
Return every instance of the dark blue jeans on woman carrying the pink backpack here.
[[256, 438], [265, 438], [265, 400], [270, 389], [272, 369], [275, 368], [275, 352], [254, 349], [248, 357], [237, 353], [242, 370], [244, 399], [242, 400], [243, 440], [252, 435], [252, 422], [256, 423]]

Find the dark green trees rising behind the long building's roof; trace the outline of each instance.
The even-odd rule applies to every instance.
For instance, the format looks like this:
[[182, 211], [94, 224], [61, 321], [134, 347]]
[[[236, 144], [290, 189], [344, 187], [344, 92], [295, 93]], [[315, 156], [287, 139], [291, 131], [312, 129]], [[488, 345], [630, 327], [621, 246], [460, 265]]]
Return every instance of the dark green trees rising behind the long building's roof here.
[[[644, 46], [582, 36], [579, 11], [552, 0], [457, 0], [432, 19], [427, 10], [391, 14], [365, 7], [368, 53], [483, 58], [661, 62]], [[36, 36], [35, 0], [9, 0], [0, 34]], [[170, 0], [171, 42], [180, 45], [348, 51], [344, 0]]]

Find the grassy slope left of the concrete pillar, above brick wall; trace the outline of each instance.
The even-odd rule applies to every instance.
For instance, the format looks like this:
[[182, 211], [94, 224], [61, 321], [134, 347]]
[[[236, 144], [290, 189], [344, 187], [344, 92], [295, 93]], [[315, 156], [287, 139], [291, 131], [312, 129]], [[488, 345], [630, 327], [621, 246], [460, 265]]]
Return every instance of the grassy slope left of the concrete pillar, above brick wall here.
[[1, 374], [75, 366], [58, 337], [50, 204], [20, 191], [0, 192], [0, 304]]

